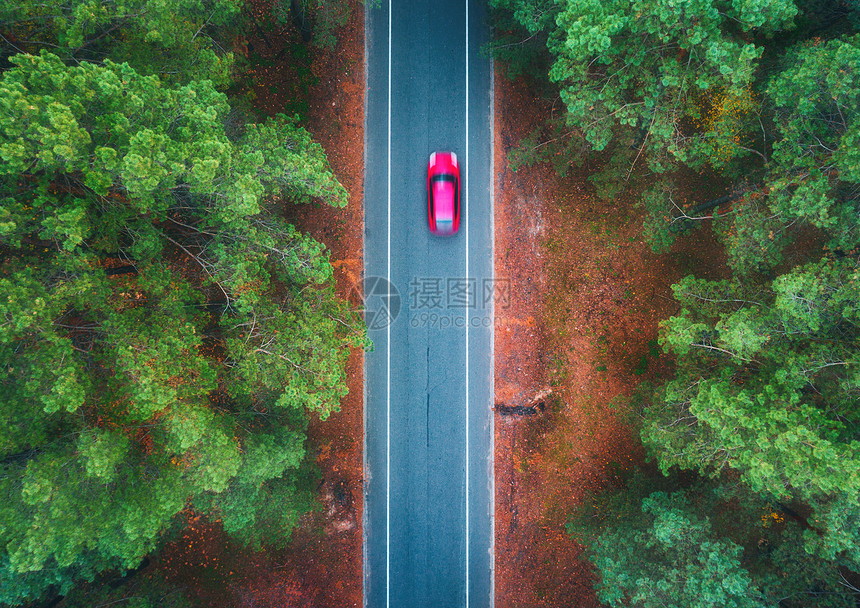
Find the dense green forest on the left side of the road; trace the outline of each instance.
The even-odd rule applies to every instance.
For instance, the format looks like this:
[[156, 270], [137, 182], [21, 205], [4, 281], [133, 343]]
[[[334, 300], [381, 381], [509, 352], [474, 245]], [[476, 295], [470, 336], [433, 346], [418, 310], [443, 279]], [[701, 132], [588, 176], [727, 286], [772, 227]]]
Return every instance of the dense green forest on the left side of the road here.
[[[345, 3], [302, 6], [333, 45]], [[308, 421], [369, 343], [284, 219], [347, 192], [243, 87], [259, 27], [242, 0], [0, 5], [0, 604], [113, 603], [189, 514], [277, 547], [316, 508]]]

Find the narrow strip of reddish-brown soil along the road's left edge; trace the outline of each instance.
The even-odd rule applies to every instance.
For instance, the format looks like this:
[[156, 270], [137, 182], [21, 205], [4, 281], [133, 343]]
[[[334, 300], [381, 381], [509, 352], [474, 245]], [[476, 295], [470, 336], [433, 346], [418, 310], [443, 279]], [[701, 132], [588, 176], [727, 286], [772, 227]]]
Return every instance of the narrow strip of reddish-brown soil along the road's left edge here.
[[[349, 193], [344, 209], [301, 207], [294, 221], [325, 243], [337, 292], [355, 297], [364, 267], [364, 8], [350, 0], [352, 16], [337, 32], [337, 48], [319, 52], [311, 71], [307, 127], [326, 150], [335, 175]], [[353, 301], [358, 307], [359, 301]], [[347, 362], [349, 394], [341, 411], [312, 421], [308, 438], [317, 446], [323, 481], [323, 510], [294, 533], [283, 555], [315, 589], [315, 606], [362, 605], [362, 508], [364, 438], [364, 353]], [[281, 606], [283, 604], [272, 604]]]

